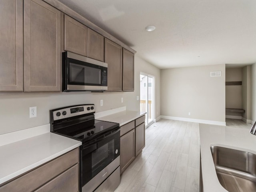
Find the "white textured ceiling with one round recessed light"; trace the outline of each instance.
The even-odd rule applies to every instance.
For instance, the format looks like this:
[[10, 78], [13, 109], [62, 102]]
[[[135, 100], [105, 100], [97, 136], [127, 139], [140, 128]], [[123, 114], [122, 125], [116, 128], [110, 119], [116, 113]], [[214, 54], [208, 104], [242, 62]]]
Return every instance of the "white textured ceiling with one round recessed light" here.
[[160, 69], [256, 63], [256, 0], [59, 1]]

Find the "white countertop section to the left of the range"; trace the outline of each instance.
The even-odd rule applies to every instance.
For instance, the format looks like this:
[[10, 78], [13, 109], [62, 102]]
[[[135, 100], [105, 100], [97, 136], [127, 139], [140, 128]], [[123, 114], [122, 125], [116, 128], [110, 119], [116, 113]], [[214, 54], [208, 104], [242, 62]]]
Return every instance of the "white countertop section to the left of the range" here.
[[0, 184], [81, 144], [80, 141], [48, 132], [0, 146]]

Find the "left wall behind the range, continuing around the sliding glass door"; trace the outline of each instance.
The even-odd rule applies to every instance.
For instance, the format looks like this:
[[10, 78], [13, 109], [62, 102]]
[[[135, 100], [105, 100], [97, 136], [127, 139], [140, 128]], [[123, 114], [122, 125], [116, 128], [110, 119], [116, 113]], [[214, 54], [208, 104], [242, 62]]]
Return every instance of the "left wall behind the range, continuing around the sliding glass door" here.
[[[147, 70], [144, 70], [147, 69]], [[0, 134], [50, 123], [49, 110], [76, 104], [95, 104], [96, 112], [126, 106], [127, 110], [140, 110], [140, 71], [156, 75], [160, 85], [160, 70], [135, 56], [134, 92], [56, 92], [56, 93], [0, 93]], [[124, 102], [121, 103], [121, 97]], [[160, 115], [160, 89], [156, 94]], [[103, 99], [103, 106], [100, 100]], [[29, 118], [29, 107], [37, 106], [37, 117]]]

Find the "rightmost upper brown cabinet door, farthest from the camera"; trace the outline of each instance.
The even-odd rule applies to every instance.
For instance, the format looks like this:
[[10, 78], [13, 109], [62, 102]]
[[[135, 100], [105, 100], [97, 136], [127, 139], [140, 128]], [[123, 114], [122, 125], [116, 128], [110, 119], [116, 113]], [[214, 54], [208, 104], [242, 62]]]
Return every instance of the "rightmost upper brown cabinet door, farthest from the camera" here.
[[123, 90], [134, 91], [134, 54], [123, 48]]

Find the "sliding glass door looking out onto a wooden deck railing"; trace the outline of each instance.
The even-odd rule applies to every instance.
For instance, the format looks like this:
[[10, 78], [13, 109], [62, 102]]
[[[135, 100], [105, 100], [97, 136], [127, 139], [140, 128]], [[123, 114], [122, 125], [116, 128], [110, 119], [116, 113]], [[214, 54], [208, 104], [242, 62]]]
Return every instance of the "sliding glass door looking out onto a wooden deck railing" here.
[[140, 73], [140, 111], [146, 112], [146, 127], [154, 122], [154, 76]]

